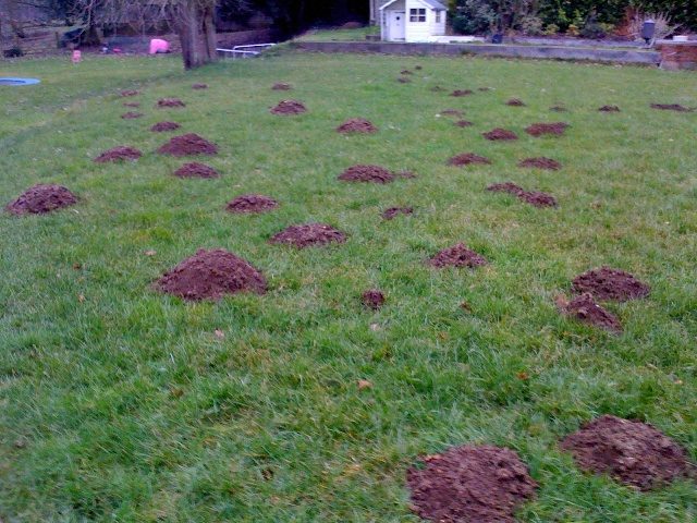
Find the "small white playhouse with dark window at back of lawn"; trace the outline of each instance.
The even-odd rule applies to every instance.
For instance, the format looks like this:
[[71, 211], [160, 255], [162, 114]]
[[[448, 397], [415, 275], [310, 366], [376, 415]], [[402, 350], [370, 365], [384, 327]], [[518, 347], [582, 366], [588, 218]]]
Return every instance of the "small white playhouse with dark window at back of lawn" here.
[[445, 8], [438, 0], [391, 0], [380, 8], [387, 41], [435, 41], [445, 34]]

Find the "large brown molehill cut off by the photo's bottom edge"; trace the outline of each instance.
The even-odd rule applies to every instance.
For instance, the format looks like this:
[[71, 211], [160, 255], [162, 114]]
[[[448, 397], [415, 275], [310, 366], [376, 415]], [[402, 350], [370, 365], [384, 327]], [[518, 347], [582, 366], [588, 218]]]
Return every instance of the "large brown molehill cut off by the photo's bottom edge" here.
[[513, 523], [514, 512], [535, 497], [537, 483], [513, 450], [453, 447], [427, 455], [406, 473], [412, 510], [437, 523]]

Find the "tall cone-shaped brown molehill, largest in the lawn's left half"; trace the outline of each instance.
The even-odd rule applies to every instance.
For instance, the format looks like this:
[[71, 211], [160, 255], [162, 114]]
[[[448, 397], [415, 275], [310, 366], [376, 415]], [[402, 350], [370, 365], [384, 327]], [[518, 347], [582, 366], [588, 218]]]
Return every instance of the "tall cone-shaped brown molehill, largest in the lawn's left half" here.
[[155, 288], [184, 300], [219, 300], [224, 294], [264, 294], [267, 282], [261, 272], [244, 259], [222, 248], [199, 250], [166, 272]]

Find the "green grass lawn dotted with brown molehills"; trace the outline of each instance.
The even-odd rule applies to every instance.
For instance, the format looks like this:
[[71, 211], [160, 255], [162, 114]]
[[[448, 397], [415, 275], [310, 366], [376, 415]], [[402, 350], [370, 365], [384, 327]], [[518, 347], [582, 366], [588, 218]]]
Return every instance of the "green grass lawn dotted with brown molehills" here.
[[[417, 63], [413, 83], [396, 83]], [[0, 64], [0, 75], [42, 80], [0, 87], [0, 200], [39, 182], [81, 197], [51, 215], [0, 216], [5, 523], [417, 521], [405, 470], [468, 441], [508, 446], [528, 463], [540, 489], [522, 522], [697, 519], [693, 483], [637, 492], [582, 473], [557, 447], [611, 413], [652, 423], [697, 458], [697, 120], [648, 107], [695, 106], [694, 75], [291, 52], [180, 69], [175, 57]], [[295, 89], [272, 92], [279, 81]], [[195, 82], [210, 88], [192, 90]], [[494, 90], [451, 98], [431, 93], [436, 84]], [[121, 120], [130, 109], [117, 94], [133, 87], [146, 117]], [[186, 109], [155, 109], [164, 96]], [[309, 112], [269, 114], [283, 97]], [[505, 106], [511, 97], [527, 107]], [[554, 104], [570, 112], [550, 113]], [[607, 104], [622, 112], [596, 110]], [[447, 108], [475, 125], [438, 118]], [[380, 132], [333, 132], [351, 117]], [[155, 154], [167, 138], [147, 131], [161, 120], [216, 142], [210, 165], [223, 177], [173, 179], [181, 161]], [[522, 131], [555, 120], [571, 123], [565, 136]], [[521, 139], [485, 141], [494, 126]], [[93, 163], [115, 145], [145, 155]], [[445, 166], [464, 151], [493, 163]], [[564, 168], [515, 167], [528, 156]], [[358, 162], [418, 178], [335, 180]], [[554, 194], [559, 209], [485, 191], [506, 180]], [[282, 205], [262, 216], [223, 211], [247, 192]], [[415, 214], [383, 222], [379, 212], [395, 205]], [[314, 220], [348, 241], [305, 251], [267, 243]], [[461, 241], [491, 264], [424, 264]], [[260, 268], [270, 292], [187, 304], [151, 290], [164, 270], [217, 246]], [[625, 327], [619, 336], [553, 304], [575, 275], [602, 264], [652, 287], [646, 300], [609, 305]], [[380, 312], [359, 304], [369, 287], [388, 295]], [[358, 379], [372, 388], [358, 390]]]

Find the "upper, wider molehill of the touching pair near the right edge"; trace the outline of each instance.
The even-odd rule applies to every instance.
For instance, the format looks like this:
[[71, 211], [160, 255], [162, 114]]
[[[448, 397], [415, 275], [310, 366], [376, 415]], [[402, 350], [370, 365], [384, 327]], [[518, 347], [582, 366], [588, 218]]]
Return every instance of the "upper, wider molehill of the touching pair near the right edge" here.
[[584, 272], [574, 278], [572, 284], [576, 292], [589, 292], [597, 300], [616, 300], [619, 302], [646, 297], [651, 290], [649, 285], [637, 280], [629, 272], [610, 267]]

